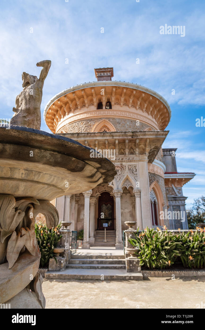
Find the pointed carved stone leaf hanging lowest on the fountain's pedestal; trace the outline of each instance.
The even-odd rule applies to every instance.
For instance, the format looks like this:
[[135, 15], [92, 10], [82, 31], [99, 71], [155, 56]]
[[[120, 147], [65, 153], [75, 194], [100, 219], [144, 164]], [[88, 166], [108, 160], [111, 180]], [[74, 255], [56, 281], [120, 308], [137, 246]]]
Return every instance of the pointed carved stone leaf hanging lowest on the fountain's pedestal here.
[[9, 269], [13, 266], [14, 262], [17, 260], [21, 249], [26, 242], [26, 236], [20, 237], [21, 233], [14, 231], [7, 246], [7, 260], [9, 263]]

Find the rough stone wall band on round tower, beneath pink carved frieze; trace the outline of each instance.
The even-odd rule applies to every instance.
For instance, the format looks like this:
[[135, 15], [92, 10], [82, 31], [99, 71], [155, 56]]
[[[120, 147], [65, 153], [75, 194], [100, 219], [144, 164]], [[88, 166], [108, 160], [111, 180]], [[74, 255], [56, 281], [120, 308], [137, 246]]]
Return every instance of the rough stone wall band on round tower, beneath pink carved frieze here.
[[150, 127], [148, 124], [142, 122], [139, 122], [139, 126], [137, 126], [136, 120], [115, 117], [83, 119], [63, 127], [63, 130], [67, 133], [92, 132], [94, 125], [99, 123], [102, 119], [109, 120], [117, 132], [144, 131], [146, 128]]

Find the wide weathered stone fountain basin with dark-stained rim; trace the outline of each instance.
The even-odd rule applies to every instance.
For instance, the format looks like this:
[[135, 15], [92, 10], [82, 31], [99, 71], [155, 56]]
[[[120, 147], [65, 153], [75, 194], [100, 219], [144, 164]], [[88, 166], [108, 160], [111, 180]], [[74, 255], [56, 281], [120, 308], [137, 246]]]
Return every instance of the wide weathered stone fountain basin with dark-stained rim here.
[[90, 150], [57, 134], [0, 127], [0, 193], [52, 200], [111, 182], [115, 166]]

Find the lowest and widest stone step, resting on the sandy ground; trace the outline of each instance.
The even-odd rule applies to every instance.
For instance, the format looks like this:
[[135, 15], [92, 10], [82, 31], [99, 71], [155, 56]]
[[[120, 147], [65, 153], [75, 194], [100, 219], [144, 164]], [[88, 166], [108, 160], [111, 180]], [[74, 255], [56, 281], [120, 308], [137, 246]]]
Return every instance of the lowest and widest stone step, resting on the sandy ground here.
[[[103, 274], [102, 274], [103, 273]], [[45, 273], [46, 279], [60, 280], [134, 280], [142, 281], [141, 273], [127, 273], [126, 269], [73, 269], [50, 271]]]

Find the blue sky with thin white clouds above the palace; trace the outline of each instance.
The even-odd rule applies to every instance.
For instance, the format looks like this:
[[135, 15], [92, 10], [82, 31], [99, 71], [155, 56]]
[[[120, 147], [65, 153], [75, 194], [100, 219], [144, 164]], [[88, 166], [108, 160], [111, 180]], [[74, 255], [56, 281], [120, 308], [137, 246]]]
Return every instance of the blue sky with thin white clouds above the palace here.
[[[113, 80], [144, 85], [169, 102], [163, 147], [178, 148], [178, 172], [196, 173], [183, 188], [189, 207], [205, 195], [205, 127], [195, 126], [196, 118], [205, 118], [204, 22], [199, 0], [1, 0], [0, 117], [12, 117], [21, 74], [39, 77], [40, 60], [52, 61], [41, 103], [41, 129], [48, 132], [43, 110], [50, 98], [95, 81], [94, 68], [113, 66]], [[161, 35], [165, 24], [185, 26], [185, 37]]]

